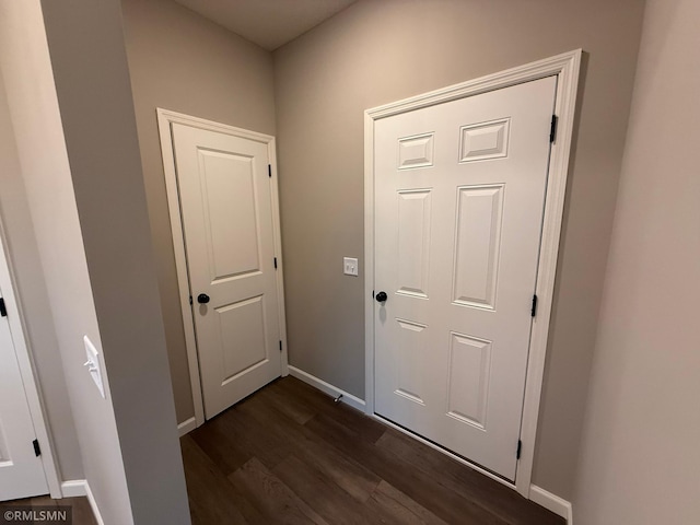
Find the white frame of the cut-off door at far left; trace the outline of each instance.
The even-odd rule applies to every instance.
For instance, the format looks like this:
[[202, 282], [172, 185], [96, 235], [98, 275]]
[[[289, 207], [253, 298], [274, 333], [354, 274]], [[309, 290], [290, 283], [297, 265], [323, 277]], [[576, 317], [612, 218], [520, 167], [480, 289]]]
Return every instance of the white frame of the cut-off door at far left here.
[[[61, 491], [60, 474], [56, 455], [54, 454], [54, 441], [49, 432], [49, 424], [46, 420], [43, 397], [39, 385], [36, 382], [34, 372], [34, 359], [30, 352], [28, 340], [24, 331], [24, 320], [22, 316], [22, 305], [20, 298], [15, 295], [15, 282], [10, 267], [10, 257], [5, 252], [4, 230], [0, 223], [0, 288], [2, 289], [2, 299], [4, 300], [5, 310], [8, 311], [8, 323], [10, 325], [10, 335], [14, 346], [14, 353], [20, 365], [20, 375], [24, 384], [24, 395], [30, 407], [30, 416], [34, 425], [34, 433], [42, 447], [42, 465], [44, 466], [44, 475], [48, 490], [54, 499], [63, 497]], [[27, 444], [28, 446], [28, 444]]]

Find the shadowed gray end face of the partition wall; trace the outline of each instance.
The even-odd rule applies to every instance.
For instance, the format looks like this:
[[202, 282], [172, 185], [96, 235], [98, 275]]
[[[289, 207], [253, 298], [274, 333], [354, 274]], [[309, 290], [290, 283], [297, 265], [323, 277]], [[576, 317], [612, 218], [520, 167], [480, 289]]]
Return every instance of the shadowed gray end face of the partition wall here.
[[[186, 524], [121, 4], [46, 0], [42, 7], [131, 514], [139, 525]], [[98, 440], [81, 441], [81, 448], [83, 457], [100, 459]], [[90, 475], [88, 462], [85, 469]], [[106, 523], [128, 522], [128, 508], [110, 511]]]

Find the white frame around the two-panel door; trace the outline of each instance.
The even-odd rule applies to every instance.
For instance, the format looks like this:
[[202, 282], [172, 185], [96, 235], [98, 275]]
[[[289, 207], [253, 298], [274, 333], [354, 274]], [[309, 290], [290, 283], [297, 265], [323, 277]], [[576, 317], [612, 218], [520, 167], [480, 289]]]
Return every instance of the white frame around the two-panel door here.
[[[173, 247], [175, 248], [175, 266], [177, 267], [177, 284], [179, 288], [179, 303], [183, 312], [183, 325], [185, 327], [185, 343], [187, 347], [187, 362], [189, 365], [189, 380], [192, 389], [192, 401], [195, 405], [195, 425], [199, 427], [205, 422], [205, 404], [201, 393], [201, 378], [199, 374], [199, 358], [197, 354], [197, 339], [195, 337], [195, 319], [192, 317], [191, 305], [189, 304], [190, 289], [189, 276], [187, 273], [187, 257], [185, 254], [185, 236], [183, 230], [183, 217], [179, 207], [179, 190], [177, 185], [177, 173], [175, 168], [175, 156], [173, 152], [172, 125], [182, 124], [198, 129], [215, 131], [219, 133], [241, 137], [243, 139], [255, 140], [267, 144], [269, 162], [272, 166], [270, 178], [272, 196], [272, 230], [275, 235], [275, 254], [277, 256], [278, 270], [277, 293], [279, 296], [278, 308], [280, 317], [280, 339], [282, 340], [282, 376], [289, 374], [289, 360], [287, 352], [287, 320], [284, 316], [284, 281], [283, 281], [283, 258], [282, 238], [280, 229], [280, 205], [279, 185], [277, 180], [277, 148], [275, 137], [247, 129], [235, 128], [225, 124], [206, 120], [203, 118], [191, 117], [182, 113], [158, 108], [158, 126], [161, 136], [161, 153], [163, 155], [163, 168], [165, 171], [165, 186], [167, 189], [167, 207], [171, 215], [171, 231], [173, 234]], [[180, 422], [183, 425], [183, 422]], [[184, 427], [185, 431], [192, 430], [191, 425]]]

